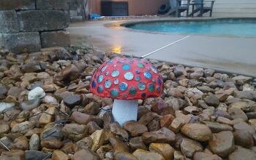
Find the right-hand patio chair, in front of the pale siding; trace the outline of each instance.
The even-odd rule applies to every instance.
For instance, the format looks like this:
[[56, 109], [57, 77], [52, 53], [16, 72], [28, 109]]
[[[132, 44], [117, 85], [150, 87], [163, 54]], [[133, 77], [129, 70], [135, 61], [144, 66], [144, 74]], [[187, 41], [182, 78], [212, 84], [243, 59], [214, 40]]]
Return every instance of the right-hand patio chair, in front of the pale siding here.
[[[194, 17], [194, 14], [199, 12], [197, 17], [202, 17], [204, 13], [210, 12], [210, 17], [212, 15], [212, 9], [214, 8], [214, 1], [203, 1], [203, 0], [195, 0], [192, 4], [192, 13], [189, 17]], [[205, 2], [211, 2], [210, 6], [205, 6]]]

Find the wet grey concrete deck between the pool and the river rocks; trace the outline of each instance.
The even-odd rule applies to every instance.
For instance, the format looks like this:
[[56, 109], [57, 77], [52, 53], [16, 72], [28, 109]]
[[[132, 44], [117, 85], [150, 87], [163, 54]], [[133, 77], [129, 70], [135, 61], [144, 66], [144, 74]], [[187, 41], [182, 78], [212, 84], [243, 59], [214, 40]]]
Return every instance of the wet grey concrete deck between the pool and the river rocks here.
[[[73, 45], [92, 44], [96, 49], [105, 52], [115, 51], [136, 57], [146, 55], [188, 36], [186, 39], [148, 55], [146, 58], [256, 76], [256, 36], [150, 33], [120, 26], [121, 23], [152, 19], [154, 18], [72, 23], [67, 31], [70, 33]], [[173, 18], [157, 18], [157, 20], [159, 19], [174, 20]]]

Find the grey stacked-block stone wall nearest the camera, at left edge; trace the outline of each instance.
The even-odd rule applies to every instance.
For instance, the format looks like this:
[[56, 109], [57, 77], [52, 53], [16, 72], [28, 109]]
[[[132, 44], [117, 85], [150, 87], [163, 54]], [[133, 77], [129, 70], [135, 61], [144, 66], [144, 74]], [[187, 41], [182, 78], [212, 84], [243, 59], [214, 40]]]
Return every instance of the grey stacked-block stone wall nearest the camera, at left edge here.
[[67, 47], [67, 0], [0, 0], [0, 50], [37, 52]]

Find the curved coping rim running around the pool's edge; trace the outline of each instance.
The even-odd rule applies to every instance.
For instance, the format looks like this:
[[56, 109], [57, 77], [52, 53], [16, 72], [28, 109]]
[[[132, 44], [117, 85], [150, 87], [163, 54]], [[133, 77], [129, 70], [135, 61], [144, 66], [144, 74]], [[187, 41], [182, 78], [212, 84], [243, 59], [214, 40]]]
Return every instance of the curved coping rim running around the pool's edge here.
[[206, 33], [167, 33], [159, 31], [143, 31], [128, 28], [130, 25], [146, 24], [146, 23], [165, 23], [165, 22], [203, 22], [211, 20], [256, 20], [256, 17], [181, 17], [181, 18], [170, 18], [170, 17], [159, 17], [158, 19], [153, 18], [150, 20], [124, 20], [123, 22], [106, 23], [105, 27], [109, 28], [123, 28], [126, 31], [141, 32], [141, 33], [152, 33], [152, 34], [165, 34], [165, 35], [193, 35], [193, 36], [222, 36], [222, 37], [241, 37], [241, 38], [255, 38], [256, 36], [250, 35], [223, 35], [223, 34], [206, 34]]

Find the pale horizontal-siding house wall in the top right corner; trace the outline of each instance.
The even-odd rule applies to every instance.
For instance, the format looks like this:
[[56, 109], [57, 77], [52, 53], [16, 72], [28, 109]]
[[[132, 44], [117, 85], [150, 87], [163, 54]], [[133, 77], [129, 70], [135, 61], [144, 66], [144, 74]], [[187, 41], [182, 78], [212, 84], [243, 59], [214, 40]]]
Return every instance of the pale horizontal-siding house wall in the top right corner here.
[[214, 17], [256, 17], [256, 0], [215, 0]]

